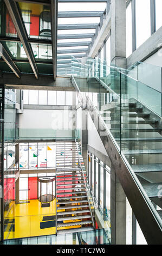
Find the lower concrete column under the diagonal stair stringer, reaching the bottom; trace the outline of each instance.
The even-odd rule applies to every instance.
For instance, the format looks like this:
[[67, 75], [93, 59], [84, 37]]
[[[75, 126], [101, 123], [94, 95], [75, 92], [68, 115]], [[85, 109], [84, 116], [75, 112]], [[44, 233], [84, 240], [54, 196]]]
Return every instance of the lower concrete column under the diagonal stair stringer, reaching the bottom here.
[[126, 244], [126, 195], [111, 169], [111, 241], [112, 245]]

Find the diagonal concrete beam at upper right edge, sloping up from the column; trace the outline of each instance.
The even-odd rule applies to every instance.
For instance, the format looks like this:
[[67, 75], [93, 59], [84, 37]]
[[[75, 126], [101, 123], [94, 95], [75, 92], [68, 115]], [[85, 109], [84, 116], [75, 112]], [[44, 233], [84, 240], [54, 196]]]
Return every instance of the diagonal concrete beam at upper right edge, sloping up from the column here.
[[143, 62], [162, 47], [162, 27], [148, 38], [127, 58], [127, 68], [135, 62]]

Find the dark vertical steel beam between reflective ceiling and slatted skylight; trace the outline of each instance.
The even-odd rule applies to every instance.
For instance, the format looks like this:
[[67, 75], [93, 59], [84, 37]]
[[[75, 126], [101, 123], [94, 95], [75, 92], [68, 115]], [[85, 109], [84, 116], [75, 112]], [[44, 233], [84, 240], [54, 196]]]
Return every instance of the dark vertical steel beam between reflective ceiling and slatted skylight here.
[[52, 51], [53, 51], [54, 81], [56, 80], [56, 68], [57, 68], [57, 10], [58, 10], [58, 1], [51, 0], [51, 38], [52, 38]]

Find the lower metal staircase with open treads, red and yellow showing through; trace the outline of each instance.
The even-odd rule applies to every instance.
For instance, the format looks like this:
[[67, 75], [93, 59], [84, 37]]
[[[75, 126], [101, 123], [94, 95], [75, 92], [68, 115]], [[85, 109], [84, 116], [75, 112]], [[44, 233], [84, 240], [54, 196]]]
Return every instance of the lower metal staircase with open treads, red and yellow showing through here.
[[56, 234], [93, 230], [86, 172], [75, 141], [56, 141]]

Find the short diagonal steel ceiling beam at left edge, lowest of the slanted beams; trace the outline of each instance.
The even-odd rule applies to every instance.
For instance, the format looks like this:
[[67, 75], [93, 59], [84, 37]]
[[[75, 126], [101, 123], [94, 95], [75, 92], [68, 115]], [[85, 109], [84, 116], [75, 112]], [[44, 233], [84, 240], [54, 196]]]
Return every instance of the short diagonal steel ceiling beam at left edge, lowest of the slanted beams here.
[[8, 52], [5, 50], [3, 45], [0, 43], [0, 56], [4, 59], [4, 61], [8, 64], [10, 69], [15, 73], [18, 78], [21, 78], [21, 72], [18, 70], [15, 63], [12, 62], [11, 57], [9, 56]]

